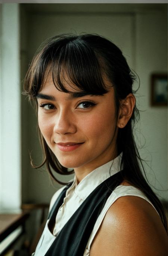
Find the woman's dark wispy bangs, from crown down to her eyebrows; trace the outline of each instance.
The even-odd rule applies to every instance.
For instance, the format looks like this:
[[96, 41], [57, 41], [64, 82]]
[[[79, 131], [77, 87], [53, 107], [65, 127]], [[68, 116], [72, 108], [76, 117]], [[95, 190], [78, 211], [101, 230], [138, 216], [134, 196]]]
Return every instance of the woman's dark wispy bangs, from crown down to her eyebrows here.
[[103, 79], [106, 77], [103, 71], [105, 65], [99, 54], [84, 40], [67, 40], [64, 38], [47, 44], [32, 61], [32, 81], [29, 83], [29, 95], [32, 97], [44, 86], [49, 73], [57, 90], [65, 93], [71, 93], [65, 87], [65, 82], [73, 89], [88, 94], [102, 95], [108, 92], [107, 79]]

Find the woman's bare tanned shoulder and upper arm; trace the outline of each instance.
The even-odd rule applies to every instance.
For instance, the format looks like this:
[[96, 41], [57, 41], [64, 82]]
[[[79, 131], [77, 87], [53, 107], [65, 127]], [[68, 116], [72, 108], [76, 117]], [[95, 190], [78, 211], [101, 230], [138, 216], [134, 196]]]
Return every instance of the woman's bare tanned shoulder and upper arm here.
[[168, 255], [168, 236], [152, 205], [138, 196], [118, 198], [91, 245], [90, 256], [100, 255]]

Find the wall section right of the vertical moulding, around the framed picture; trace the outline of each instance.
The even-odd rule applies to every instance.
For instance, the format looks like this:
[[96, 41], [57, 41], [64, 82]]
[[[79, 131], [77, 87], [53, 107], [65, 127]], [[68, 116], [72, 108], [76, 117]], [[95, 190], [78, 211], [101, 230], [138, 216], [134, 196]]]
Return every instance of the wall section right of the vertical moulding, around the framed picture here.
[[[146, 139], [142, 156], [153, 186], [167, 189], [167, 107], [150, 106], [150, 73], [167, 72], [167, 15], [152, 12], [137, 15], [136, 71], [140, 75], [140, 130]], [[150, 156], [151, 154], [151, 156]], [[146, 165], [145, 165], [146, 166]], [[156, 175], [156, 177], [155, 177]], [[167, 192], [155, 191], [167, 198]]]

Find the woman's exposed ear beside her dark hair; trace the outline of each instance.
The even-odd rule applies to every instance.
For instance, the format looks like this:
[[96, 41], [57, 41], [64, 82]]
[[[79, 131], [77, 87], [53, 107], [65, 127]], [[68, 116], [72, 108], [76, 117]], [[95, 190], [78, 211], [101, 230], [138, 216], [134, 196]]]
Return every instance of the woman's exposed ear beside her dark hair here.
[[119, 128], [124, 128], [130, 120], [131, 115], [133, 114], [135, 103], [136, 98], [132, 93], [128, 94], [125, 99], [120, 101], [119, 115], [117, 121], [117, 126]]

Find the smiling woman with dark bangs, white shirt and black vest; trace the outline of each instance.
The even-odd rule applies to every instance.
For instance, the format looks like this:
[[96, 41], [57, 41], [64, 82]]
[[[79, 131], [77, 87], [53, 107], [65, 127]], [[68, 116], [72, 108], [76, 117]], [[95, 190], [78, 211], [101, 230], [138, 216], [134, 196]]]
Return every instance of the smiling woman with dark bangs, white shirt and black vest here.
[[35, 256], [167, 255], [164, 210], [133, 138], [133, 81], [101, 36], [62, 34], [38, 49], [24, 90], [38, 109], [41, 166], [75, 178], [53, 196]]

